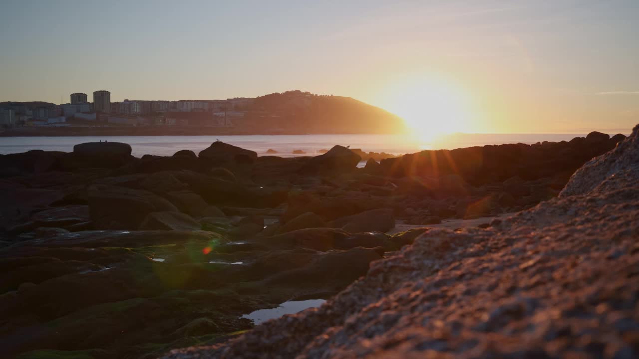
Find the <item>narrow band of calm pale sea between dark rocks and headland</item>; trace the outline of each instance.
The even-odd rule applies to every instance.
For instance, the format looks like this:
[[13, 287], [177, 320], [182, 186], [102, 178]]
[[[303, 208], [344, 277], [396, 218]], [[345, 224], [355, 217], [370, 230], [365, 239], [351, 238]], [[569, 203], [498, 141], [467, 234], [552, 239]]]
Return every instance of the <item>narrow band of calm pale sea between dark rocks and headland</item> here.
[[[629, 131], [628, 131], [629, 133]], [[238, 135], [238, 136], [69, 136], [69, 137], [0, 137], [0, 154], [19, 153], [30, 149], [45, 151], [73, 151], [82, 142], [125, 142], [133, 155], [170, 156], [180, 149], [198, 153], [216, 139], [266, 155], [275, 149], [278, 156], [292, 157], [296, 149], [307, 155], [318, 155], [321, 149], [335, 144], [361, 148], [364, 151], [387, 152], [395, 155], [414, 153], [423, 149], [454, 149], [485, 144], [535, 143], [537, 141], [569, 141], [585, 134], [456, 134], [436, 142], [422, 142], [401, 135]]]

